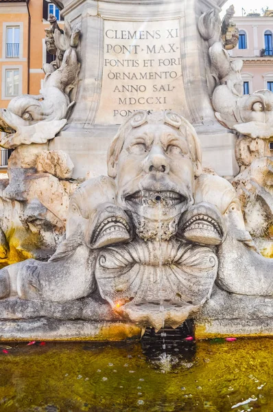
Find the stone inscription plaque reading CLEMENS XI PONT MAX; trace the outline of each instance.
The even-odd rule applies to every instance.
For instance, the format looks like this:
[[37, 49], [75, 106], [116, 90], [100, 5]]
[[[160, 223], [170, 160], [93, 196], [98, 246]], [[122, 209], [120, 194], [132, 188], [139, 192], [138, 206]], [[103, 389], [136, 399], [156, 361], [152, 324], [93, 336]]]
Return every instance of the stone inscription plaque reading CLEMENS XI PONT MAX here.
[[104, 21], [102, 91], [96, 124], [121, 124], [141, 108], [188, 117], [179, 21]]

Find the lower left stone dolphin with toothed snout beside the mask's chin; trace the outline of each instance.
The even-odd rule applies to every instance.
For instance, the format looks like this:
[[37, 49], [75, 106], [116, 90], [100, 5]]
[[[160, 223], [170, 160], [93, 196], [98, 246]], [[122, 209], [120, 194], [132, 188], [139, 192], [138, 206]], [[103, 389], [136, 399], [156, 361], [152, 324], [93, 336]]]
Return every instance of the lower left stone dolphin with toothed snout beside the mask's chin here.
[[131, 228], [128, 215], [115, 205], [114, 181], [106, 176], [86, 181], [71, 198], [66, 238], [56, 253], [49, 262], [29, 259], [3, 268], [0, 299], [65, 302], [86, 297], [96, 287], [95, 249], [130, 240]]

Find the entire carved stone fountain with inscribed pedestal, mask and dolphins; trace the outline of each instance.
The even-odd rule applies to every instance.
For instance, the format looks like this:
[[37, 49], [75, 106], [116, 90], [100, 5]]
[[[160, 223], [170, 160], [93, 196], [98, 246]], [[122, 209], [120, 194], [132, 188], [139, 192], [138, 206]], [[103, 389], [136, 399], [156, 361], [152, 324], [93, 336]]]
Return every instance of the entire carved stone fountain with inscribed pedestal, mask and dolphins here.
[[0, 113], [2, 339], [273, 334], [273, 93], [242, 95], [234, 9], [56, 3], [40, 95]]

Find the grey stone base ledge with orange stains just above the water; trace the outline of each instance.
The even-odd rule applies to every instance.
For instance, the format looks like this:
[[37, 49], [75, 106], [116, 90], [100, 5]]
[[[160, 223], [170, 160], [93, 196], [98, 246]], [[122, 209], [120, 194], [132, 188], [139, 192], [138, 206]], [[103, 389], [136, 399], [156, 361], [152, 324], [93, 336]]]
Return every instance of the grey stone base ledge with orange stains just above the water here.
[[[231, 295], [215, 286], [193, 319], [195, 339], [273, 336], [272, 302], [273, 297]], [[123, 341], [141, 339], [143, 332], [90, 297], [66, 304], [9, 298], [0, 301], [0, 313], [2, 341]]]

